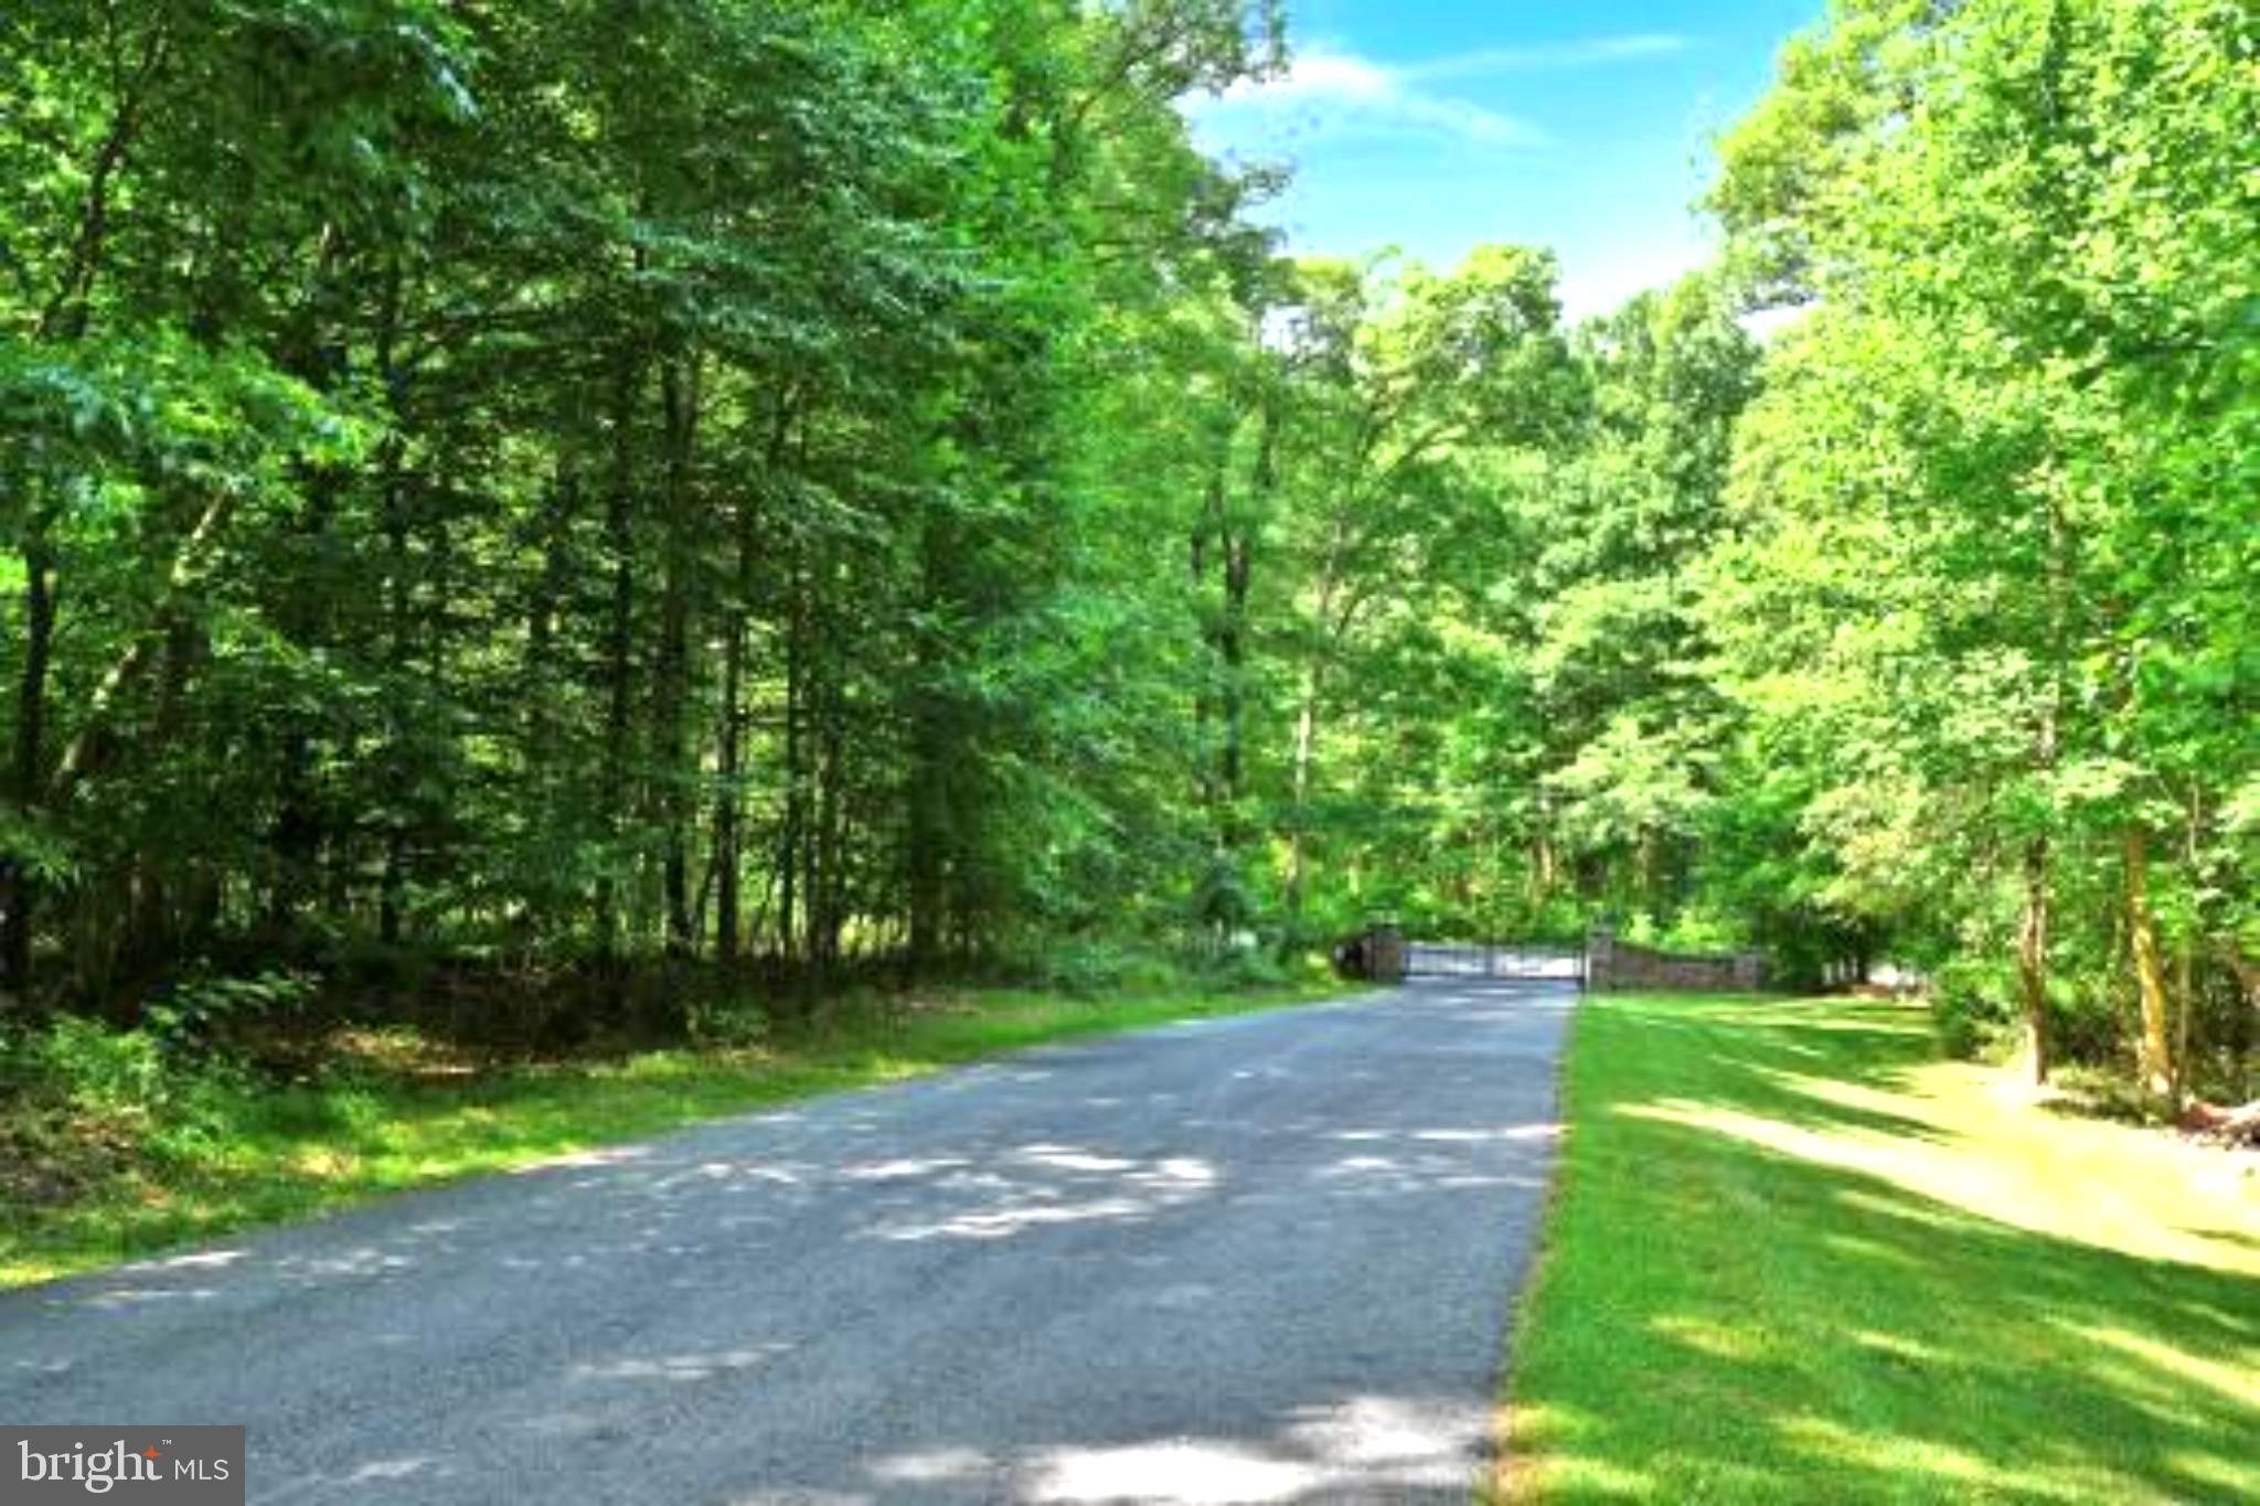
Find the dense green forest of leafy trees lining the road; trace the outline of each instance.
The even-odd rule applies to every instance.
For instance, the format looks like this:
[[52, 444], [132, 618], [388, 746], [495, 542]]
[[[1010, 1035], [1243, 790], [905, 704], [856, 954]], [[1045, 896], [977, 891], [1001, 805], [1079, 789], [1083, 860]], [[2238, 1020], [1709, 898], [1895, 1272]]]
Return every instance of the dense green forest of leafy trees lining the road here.
[[2253, 11], [1835, 0], [1718, 262], [1575, 325], [1541, 248], [1284, 255], [1182, 104], [1286, 59], [14, 0], [0, 1030], [1609, 917], [2249, 1097]]

